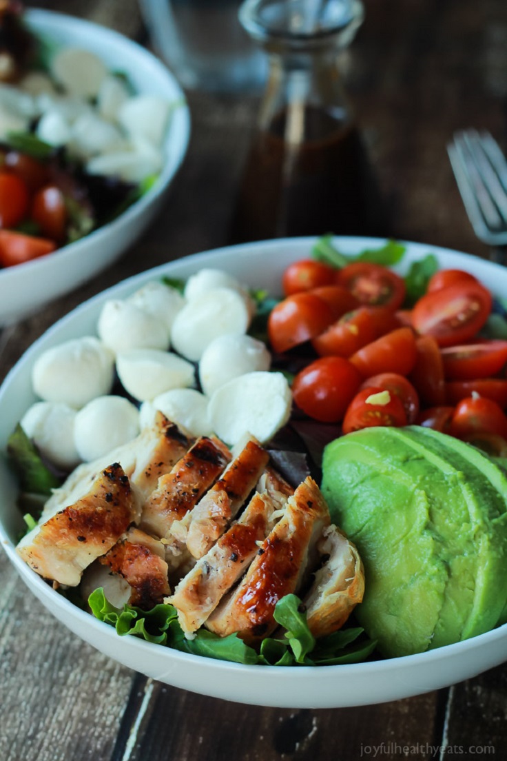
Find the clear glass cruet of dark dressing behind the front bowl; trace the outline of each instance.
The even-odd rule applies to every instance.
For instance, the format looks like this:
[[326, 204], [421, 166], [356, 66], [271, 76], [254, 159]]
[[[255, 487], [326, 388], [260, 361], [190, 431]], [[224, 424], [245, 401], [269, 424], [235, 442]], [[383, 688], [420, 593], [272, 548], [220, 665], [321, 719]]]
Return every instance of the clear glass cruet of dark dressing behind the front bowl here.
[[363, 21], [362, 3], [246, 0], [239, 21], [268, 53], [269, 74], [231, 239], [388, 234], [338, 65]]

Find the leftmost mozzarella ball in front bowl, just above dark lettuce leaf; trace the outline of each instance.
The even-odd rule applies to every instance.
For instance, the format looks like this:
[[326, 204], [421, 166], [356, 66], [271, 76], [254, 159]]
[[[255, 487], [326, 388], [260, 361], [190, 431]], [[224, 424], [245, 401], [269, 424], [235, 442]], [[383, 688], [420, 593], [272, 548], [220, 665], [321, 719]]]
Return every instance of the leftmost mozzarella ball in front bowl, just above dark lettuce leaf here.
[[21, 428], [49, 462], [71, 470], [80, 460], [74, 447], [75, 409], [59, 402], [36, 402], [21, 419]]

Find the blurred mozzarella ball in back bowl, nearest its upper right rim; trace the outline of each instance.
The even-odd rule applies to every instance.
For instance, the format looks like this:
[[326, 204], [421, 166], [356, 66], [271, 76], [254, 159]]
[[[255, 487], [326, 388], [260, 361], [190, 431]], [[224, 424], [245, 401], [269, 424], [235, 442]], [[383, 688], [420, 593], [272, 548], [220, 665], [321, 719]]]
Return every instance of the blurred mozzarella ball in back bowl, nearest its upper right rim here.
[[118, 121], [132, 138], [160, 147], [169, 119], [170, 103], [157, 95], [135, 95], [122, 103]]

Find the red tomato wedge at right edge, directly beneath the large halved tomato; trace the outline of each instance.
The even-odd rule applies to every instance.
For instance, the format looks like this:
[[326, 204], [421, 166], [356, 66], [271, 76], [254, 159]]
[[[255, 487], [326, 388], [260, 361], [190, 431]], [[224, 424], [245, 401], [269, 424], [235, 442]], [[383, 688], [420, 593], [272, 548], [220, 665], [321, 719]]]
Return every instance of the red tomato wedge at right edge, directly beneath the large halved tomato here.
[[442, 349], [447, 380], [474, 380], [496, 375], [507, 362], [507, 341], [449, 346]]

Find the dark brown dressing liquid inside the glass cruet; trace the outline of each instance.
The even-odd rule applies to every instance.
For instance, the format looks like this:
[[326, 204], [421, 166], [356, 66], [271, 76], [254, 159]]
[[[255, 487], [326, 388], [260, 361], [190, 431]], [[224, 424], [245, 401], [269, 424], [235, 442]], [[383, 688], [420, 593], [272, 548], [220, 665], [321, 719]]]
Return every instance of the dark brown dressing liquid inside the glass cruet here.
[[293, 235], [388, 235], [359, 130], [305, 107], [303, 139], [289, 142], [287, 113], [256, 136], [239, 187], [234, 242]]

